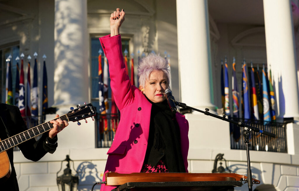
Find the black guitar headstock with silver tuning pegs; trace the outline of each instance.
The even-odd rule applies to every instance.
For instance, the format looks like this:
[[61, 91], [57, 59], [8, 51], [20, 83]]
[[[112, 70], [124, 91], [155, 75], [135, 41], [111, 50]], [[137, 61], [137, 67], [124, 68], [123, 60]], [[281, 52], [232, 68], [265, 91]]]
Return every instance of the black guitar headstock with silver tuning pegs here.
[[[94, 116], [95, 114], [96, 112], [94, 106], [91, 103], [88, 103], [85, 104], [84, 106], [77, 105], [76, 109], [71, 107], [71, 111], [69, 111], [68, 114], [66, 115], [69, 121], [73, 121], [73, 122], [77, 121], [78, 125], [81, 125], [79, 120], [85, 119], [85, 122], [87, 123], [86, 118], [88, 117], [92, 118], [92, 116]], [[92, 120], [94, 119], [92, 118]]]

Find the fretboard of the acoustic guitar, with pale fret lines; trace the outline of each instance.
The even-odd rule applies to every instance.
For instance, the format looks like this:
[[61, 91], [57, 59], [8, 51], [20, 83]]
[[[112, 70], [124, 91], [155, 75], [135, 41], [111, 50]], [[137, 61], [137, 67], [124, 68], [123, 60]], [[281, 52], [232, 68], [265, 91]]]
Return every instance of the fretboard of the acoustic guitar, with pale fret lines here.
[[[61, 120], [67, 120], [68, 121], [68, 117], [66, 114], [54, 119], [61, 119]], [[38, 125], [36, 127], [33, 127], [31, 129], [28, 129], [27, 131], [24, 131], [22, 133], [19, 133], [17, 135], [14, 135], [12, 137], [9, 137], [5, 140], [2, 140], [0, 142], [0, 152], [6, 151], [7, 149], [10, 149], [20, 143], [23, 143], [26, 140], [29, 140], [33, 137], [36, 137], [38, 135], [41, 135], [44, 132], [47, 132], [49, 130], [53, 129], [53, 124], [50, 122], [46, 122], [43, 123], [41, 125]]]

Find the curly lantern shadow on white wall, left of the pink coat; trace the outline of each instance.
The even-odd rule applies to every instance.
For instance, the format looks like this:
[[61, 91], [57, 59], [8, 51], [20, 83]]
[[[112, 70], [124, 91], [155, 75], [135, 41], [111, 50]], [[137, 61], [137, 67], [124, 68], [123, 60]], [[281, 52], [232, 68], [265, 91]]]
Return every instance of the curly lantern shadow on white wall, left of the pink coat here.
[[82, 162], [78, 165], [77, 167], [77, 172], [79, 176], [78, 191], [90, 190], [94, 183], [98, 181], [102, 181], [102, 179], [100, 179], [98, 176], [98, 171], [96, 166], [97, 165], [87, 161]]

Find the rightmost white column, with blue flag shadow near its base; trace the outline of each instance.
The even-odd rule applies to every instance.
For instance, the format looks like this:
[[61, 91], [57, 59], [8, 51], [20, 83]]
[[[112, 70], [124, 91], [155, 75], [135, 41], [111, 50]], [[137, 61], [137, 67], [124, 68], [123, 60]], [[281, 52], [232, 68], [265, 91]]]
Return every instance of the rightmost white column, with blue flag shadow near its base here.
[[289, 0], [263, 0], [267, 64], [271, 65], [278, 117], [299, 117], [296, 54]]

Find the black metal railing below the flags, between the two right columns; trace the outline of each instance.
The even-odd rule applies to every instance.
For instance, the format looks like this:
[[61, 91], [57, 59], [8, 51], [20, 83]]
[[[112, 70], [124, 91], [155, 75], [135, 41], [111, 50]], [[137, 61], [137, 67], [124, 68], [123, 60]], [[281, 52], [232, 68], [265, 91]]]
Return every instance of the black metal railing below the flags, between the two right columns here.
[[[251, 143], [251, 150], [256, 151], [270, 151], [287, 153], [286, 144], [286, 124], [277, 122], [266, 122], [259, 120], [244, 120], [233, 119], [235, 121], [242, 121], [243, 123], [256, 127], [260, 130], [274, 133], [275, 138], [262, 135], [261, 133], [251, 131], [249, 142]], [[231, 149], [246, 150], [244, 143], [243, 128], [230, 124], [231, 130]], [[239, 135], [239, 137], [238, 137]]]

